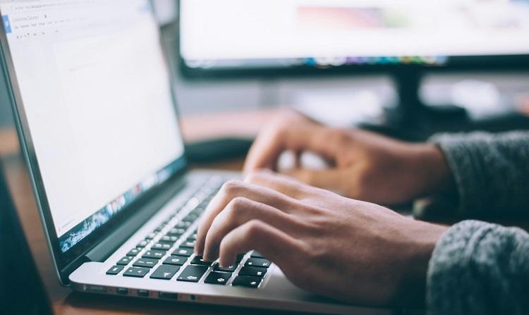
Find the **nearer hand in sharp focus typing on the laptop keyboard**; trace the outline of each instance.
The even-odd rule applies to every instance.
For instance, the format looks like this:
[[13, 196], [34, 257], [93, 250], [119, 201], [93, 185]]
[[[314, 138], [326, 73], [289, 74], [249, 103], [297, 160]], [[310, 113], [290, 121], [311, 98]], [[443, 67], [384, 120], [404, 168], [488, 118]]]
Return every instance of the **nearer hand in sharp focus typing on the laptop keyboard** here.
[[445, 227], [376, 204], [252, 173], [226, 183], [207, 207], [195, 252], [234, 263], [256, 249], [300, 288], [346, 302], [420, 304], [427, 264]]

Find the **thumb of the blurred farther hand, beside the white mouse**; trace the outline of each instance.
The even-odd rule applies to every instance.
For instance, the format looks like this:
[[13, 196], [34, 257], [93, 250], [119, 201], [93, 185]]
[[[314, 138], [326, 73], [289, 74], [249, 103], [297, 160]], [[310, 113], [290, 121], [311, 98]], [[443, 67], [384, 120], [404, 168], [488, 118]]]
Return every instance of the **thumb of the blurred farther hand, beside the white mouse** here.
[[343, 183], [343, 170], [337, 168], [326, 170], [296, 168], [285, 171], [284, 174], [296, 178], [307, 185], [332, 190], [334, 192], [346, 192], [346, 183]]

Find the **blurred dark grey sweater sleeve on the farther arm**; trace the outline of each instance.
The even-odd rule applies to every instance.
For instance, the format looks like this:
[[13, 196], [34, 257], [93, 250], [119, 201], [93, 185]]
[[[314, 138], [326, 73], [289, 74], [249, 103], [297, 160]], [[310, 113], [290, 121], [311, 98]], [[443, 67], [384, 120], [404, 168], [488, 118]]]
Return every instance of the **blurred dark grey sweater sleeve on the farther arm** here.
[[529, 132], [446, 134], [432, 142], [454, 175], [461, 216], [529, 216]]

